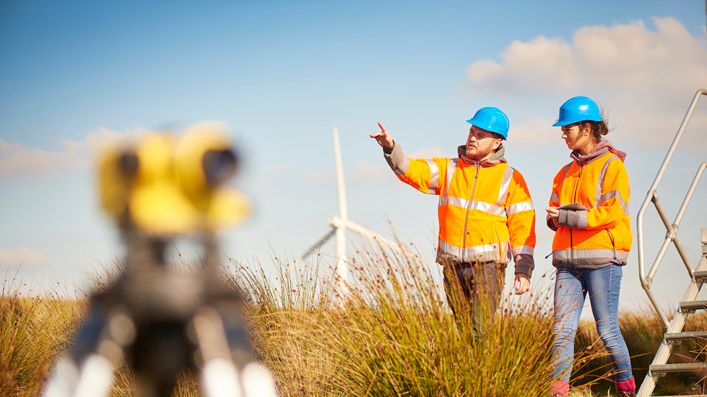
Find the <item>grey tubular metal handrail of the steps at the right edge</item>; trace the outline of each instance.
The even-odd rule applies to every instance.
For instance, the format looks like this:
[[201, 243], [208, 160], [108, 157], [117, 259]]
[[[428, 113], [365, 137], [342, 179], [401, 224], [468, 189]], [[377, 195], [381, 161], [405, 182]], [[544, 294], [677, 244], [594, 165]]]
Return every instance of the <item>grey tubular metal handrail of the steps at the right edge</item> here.
[[[655, 277], [655, 273], [658, 271], [658, 267], [660, 267], [663, 257], [665, 256], [665, 253], [668, 249], [668, 245], [670, 245], [671, 242], [675, 245], [675, 248], [677, 249], [678, 253], [680, 254], [680, 258], [682, 259], [683, 263], [685, 264], [685, 267], [687, 269], [688, 274], [690, 275], [690, 278], [694, 279], [694, 276], [692, 274], [693, 268], [690, 265], [690, 261], [685, 253], [685, 250], [682, 247], [682, 244], [680, 244], [680, 241], [677, 238], [677, 231], [678, 231], [678, 227], [680, 225], [680, 221], [682, 220], [682, 217], [685, 214], [685, 209], [687, 208], [687, 205], [692, 200], [692, 196], [695, 193], [695, 189], [697, 188], [697, 185], [699, 184], [700, 179], [702, 178], [702, 172], [704, 171], [705, 167], [707, 166], [707, 163], [702, 163], [698, 167], [697, 174], [695, 175], [695, 178], [693, 179], [692, 184], [690, 185], [690, 189], [688, 190], [687, 195], [685, 196], [685, 199], [683, 200], [683, 203], [680, 206], [680, 210], [678, 211], [678, 215], [676, 216], [675, 221], [672, 224], [668, 220], [668, 217], [665, 214], [665, 211], [660, 206], [660, 203], [658, 201], [658, 196], [656, 194], [656, 188], [658, 187], [658, 185], [662, 181], [663, 175], [665, 174], [665, 170], [666, 170], [666, 168], [668, 168], [668, 164], [670, 163], [670, 161], [673, 158], [673, 154], [675, 153], [675, 149], [677, 148], [677, 145], [680, 142], [680, 139], [682, 138], [683, 132], [685, 131], [685, 128], [687, 127], [687, 123], [692, 118], [692, 113], [695, 110], [695, 108], [697, 107], [697, 103], [699, 102], [700, 98], [703, 95], [707, 95], [707, 88], [699, 89], [695, 93], [695, 96], [692, 99], [692, 103], [690, 103], [690, 107], [687, 109], [687, 113], [685, 113], [685, 117], [682, 119], [682, 123], [680, 124], [680, 128], [678, 128], [678, 132], [677, 132], [677, 134], [675, 134], [675, 138], [673, 138], [673, 143], [670, 145], [670, 149], [668, 149], [668, 153], [665, 155], [665, 159], [663, 160], [663, 164], [660, 166], [660, 169], [658, 170], [658, 174], [656, 175], [655, 179], [653, 180], [653, 184], [651, 185], [650, 189], [648, 189], [648, 194], [646, 194], [646, 199], [643, 201], [643, 204], [641, 205], [641, 209], [638, 211], [638, 215], [636, 217], [636, 237], [637, 237], [637, 244], [638, 244], [638, 274], [639, 274], [639, 277], [641, 280], [641, 286], [643, 287], [643, 290], [646, 292], [646, 295], [648, 295], [648, 299], [650, 300], [651, 305], [653, 306], [653, 309], [655, 310], [656, 313], [658, 313], [658, 316], [660, 316], [660, 319], [663, 321], [663, 324], [665, 325], [666, 328], [669, 325], [668, 319], [665, 317], [665, 314], [658, 307], [655, 296], [651, 292], [651, 284], [653, 283], [653, 278]], [[651, 266], [651, 268], [648, 272], [648, 275], [646, 275], [645, 261], [643, 258], [643, 214], [646, 211], [646, 208], [648, 208], [649, 203], [653, 203], [655, 205], [656, 210], [658, 211], [658, 215], [660, 216], [660, 219], [663, 221], [663, 224], [665, 225], [667, 233], [665, 235], [665, 240], [663, 241], [663, 245], [660, 247], [660, 250], [658, 251], [658, 255], [656, 256], [655, 261], [653, 262], [653, 265]]]

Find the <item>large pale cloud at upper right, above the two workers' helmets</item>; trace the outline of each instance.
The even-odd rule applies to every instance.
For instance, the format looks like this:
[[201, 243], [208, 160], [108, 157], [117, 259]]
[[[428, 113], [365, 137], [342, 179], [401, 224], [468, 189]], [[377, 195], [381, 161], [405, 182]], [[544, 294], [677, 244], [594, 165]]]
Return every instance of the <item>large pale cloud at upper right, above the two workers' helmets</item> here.
[[[644, 146], [665, 146], [675, 135], [698, 88], [707, 87], [707, 49], [673, 18], [654, 18], [655, 30], [642, 21], [615, 26], [586, 26], [572, 42], [536, 37], [514, 41], [499, 61], [480, 60], [467, 69], [475, 96], [522, 100], [537, 118], [512, 125], [512, 139], [534, 128], [542, 137], [559, 105], [575, 95], [595, 98], [606, 110], [612, 140], [631, 140]], [[704, 99], [703, 99], [704, 101]], [[547, 103], [554, 103], [551, 109]], [[541, 107], [542, 106], [542, 107]], [[700, 106], [691, 125], [707, 123], [707, 107]], [[552, 139], [556, 136], [552, 135]], [[704, 151], [701, 137], [686, 135], [686, 146]], [[531, 143], [532, 143], [531, 142]]]

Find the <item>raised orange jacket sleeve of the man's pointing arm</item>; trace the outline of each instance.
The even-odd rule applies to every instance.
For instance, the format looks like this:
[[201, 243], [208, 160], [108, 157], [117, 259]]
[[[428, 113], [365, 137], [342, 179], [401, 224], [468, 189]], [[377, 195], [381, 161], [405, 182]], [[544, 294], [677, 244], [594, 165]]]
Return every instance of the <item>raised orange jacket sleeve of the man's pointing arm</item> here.
[[440, 170], [445, 171], [445, 159], [412, 159], [395, 142], [392, 149], [383, 149], [383, 156], [398, 179], [427, 194], [439, 194]]

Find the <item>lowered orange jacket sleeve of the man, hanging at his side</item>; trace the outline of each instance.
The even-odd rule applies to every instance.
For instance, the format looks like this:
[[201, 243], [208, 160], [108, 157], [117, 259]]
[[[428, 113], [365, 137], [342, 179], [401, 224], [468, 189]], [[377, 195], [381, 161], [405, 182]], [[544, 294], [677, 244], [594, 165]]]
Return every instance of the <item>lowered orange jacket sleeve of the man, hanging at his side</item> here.
[[530, 277], [535, 267], [535, 209], [528, 185], [516, 170], [513, 171], [513, 178], [508, 187], [506, 216], [515, 274]]

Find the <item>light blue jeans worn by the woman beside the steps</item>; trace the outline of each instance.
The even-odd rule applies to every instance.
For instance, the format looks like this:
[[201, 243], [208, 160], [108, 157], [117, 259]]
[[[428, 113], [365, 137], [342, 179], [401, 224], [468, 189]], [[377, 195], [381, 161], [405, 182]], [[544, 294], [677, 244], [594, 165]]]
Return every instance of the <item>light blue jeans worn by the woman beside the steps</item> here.
[[616, 381], [633, 377], [631, 359], [619, 329], [621, 266], [601, 269], [558, 268], [555, 280], [555, 379], [569, 382], [574, 360], [574, 338], [584, 299], [589, 292], [597, 332], [616, 371]]

